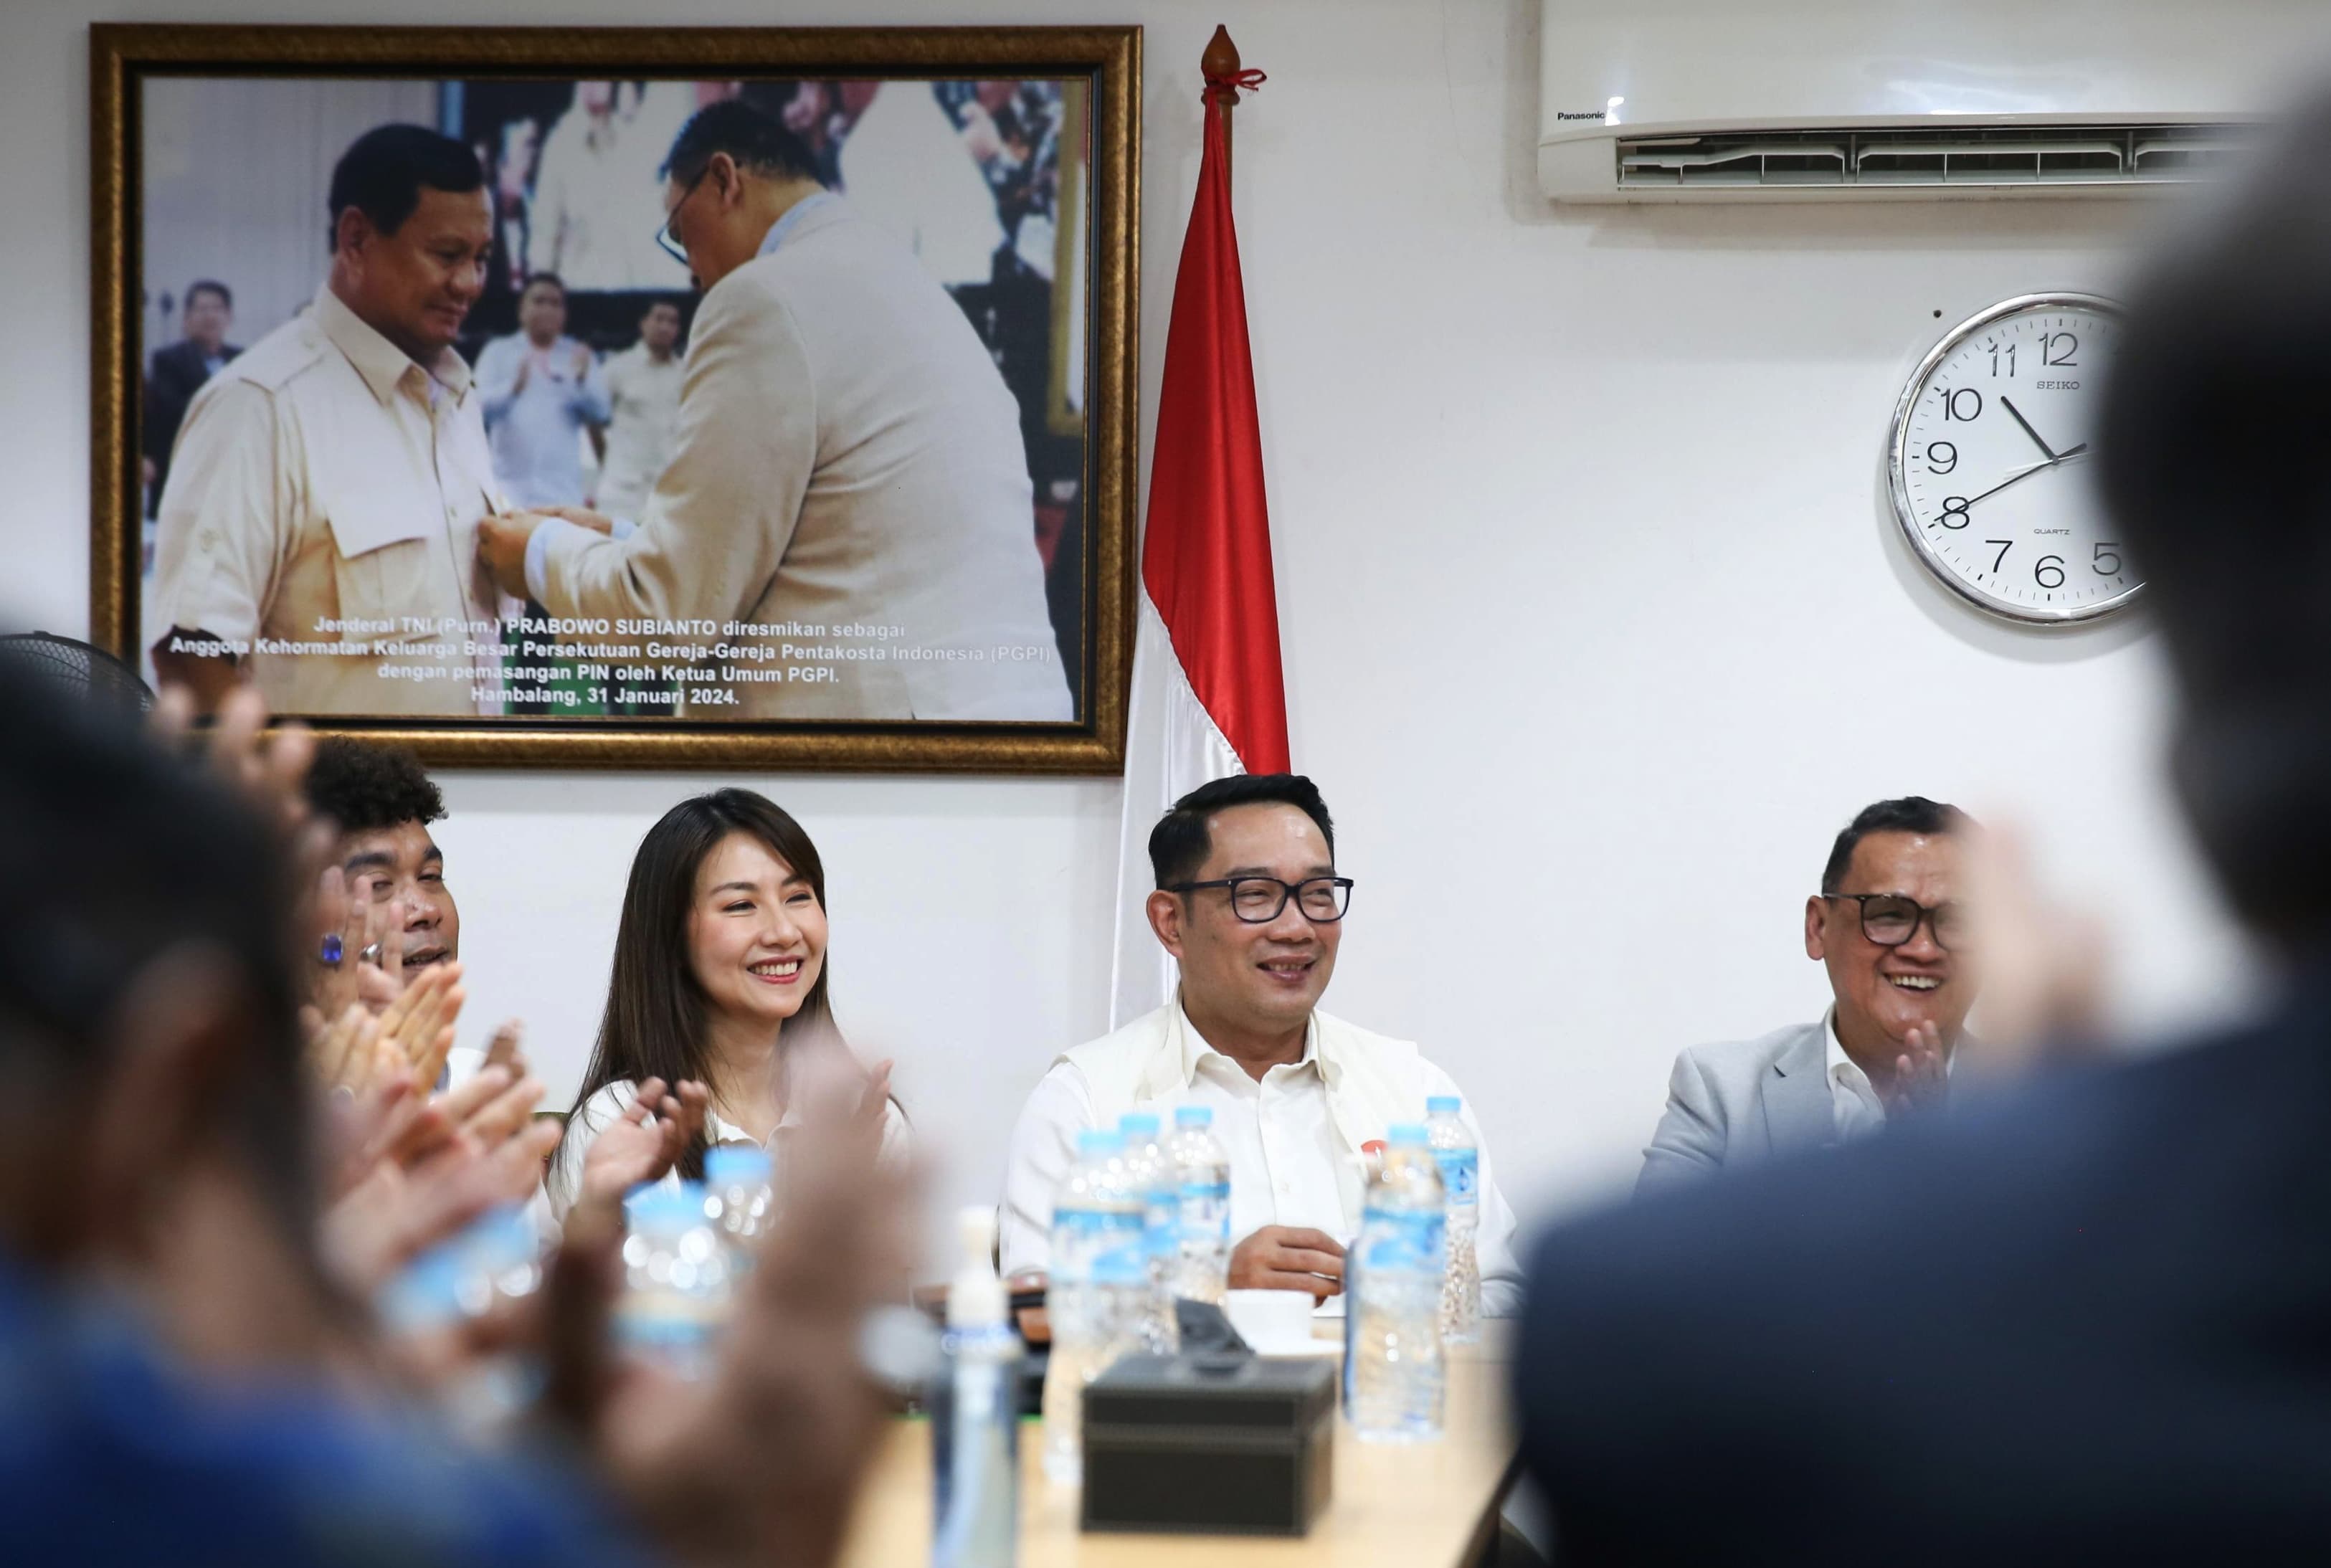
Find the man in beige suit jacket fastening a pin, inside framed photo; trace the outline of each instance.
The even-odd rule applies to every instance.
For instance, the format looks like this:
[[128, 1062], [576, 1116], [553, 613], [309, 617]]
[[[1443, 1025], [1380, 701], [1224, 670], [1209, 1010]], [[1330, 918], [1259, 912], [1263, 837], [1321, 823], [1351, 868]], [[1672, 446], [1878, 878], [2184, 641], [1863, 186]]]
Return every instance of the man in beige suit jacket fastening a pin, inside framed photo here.
[[671, 464], [636, 531], [490, 517], [494, 580], [559, 617], [783, 627], [753, 673], [788, 678], [727, 718], [1075, 718], [1019, 403], [963, 308], [741, 100], [681, 130], [664, 212], [704, 287]]

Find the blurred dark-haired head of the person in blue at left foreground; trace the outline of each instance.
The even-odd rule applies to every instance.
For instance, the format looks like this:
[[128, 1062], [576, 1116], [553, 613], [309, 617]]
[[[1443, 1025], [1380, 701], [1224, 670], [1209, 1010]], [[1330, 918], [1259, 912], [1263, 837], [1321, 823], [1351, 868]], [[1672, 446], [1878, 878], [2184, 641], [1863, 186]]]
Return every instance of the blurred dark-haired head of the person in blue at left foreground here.
[[0, 683], [0, 1249], [214, 1361], [315, 1342], [275, 836], [135, 715]]

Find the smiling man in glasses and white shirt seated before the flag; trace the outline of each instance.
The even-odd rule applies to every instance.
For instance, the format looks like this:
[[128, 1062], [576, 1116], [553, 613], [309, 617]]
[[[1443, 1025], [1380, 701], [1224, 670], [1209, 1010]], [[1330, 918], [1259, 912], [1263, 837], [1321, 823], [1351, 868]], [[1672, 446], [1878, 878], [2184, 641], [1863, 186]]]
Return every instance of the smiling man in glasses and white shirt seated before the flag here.
[[[1231, 1156], [1231, 1288], [1310, 1291], [1340, 1309], [1371, 1144], [1392, 1123], [1424, 1121], [1424, 1100], [1457, 1083], [1410, 1041], [1319, 1011], [1352, 883], [1336, 876], [1336, 829], [1310, 778], [1191, 790], [1149, 834], [1149, 925], [1179, 960], [1179, 995], [1068, 1051], [1028, 1095], [1005, 1174], [1002, 1267], [1047, 1265], [1077, 1132], [1203, 1104]], [[1508, 1314], [1520, 1298], [1513, 1209], [1473, 1107], [1462, 1114], [1480, 1144], [1483, 1312]]]

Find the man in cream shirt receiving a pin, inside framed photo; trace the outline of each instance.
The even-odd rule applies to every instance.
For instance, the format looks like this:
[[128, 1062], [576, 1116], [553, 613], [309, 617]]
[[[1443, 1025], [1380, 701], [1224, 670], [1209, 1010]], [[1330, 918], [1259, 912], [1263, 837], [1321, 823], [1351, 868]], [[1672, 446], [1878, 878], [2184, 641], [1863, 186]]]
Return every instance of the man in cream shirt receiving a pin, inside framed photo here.
[[494, 249], [485, 172], [462, 142], [380, 126], [340, 156], [329, 205], [315, 305], [186, 410], [154, 669], [205, 708], [252, 680], [287, 718], [476, 718], [464, 645], [492, 641], [476, 538], [494, 468], [452, 340]]

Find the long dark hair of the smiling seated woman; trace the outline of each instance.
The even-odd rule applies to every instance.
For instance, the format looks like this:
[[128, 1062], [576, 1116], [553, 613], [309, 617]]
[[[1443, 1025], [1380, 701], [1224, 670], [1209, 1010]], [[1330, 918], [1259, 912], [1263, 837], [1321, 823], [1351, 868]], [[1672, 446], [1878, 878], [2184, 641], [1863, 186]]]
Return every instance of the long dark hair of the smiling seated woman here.
[[[818, 846], [776, 801], [753, 790], [713, 790], [667, 811], [632, 857], [632, 881], [622, 890], [622, 918], [615, 925], [606, 1013], [599, 1020], [599, 1044], [592, 1048], [590, 1067], [583, 1069], [583, 1088], [576, 1090], [566, 1118], [569, 1135], [576, 1114], [608, 1083], [625, 1079], [711, 1083], [709, 1000], [688, 960], [688, 913], [697, 902], [697, 871], [730, 834], [760, 839], [809, 883], [818, 906], [825, 906], [825, 862], [818, 860]], [[818, 979], [802, 997], [802, 1011], [786, 1023], [788, 1034], [825, 1032], [839, 1039], [834, 1009], [825, 995], [830, 979], [832, 965], [821, 965]], [[704, 1174], [706, 1146], [709, 1139], [697, 1132], [681, 1156], [683, 1177]]]

